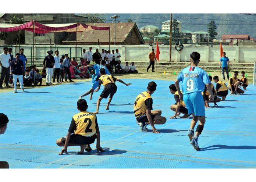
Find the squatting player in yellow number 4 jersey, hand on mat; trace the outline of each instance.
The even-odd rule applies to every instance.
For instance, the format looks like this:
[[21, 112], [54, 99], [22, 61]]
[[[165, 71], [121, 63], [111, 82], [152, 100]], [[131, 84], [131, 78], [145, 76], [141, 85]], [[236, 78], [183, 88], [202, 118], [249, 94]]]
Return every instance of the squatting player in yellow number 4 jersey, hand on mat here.
[[[147, 125], [151, 125], [153, 133], [160, 133], [154, 125], [162, 125], [166, 123], [166, 118], [160, 116], [161, 110], [153, 110], [153, 99], [151, 95], [156, 90], [156, 83], [149, 82], [147, 91], [140, 93], [134, 102], [134, 114], [138, 124], [141, 126], [142, 132], [147, 132]], [[153, 110], [153, 111], [152, 111]]]

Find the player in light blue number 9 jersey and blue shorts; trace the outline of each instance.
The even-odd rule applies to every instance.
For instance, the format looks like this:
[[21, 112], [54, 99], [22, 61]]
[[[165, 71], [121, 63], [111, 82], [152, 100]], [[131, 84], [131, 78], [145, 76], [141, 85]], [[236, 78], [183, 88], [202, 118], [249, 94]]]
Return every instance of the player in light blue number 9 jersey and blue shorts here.
[[[188, 108], [188, 114], [193, 115], [190, 129], [188, 130], [190, 143], [196, 150], [200, 150], [198, 137], [202, 133], [203, 126], [205, 125], [205, 104], [202, 96], [205, 85], [210, 92], [209, 101], [213, 101], [214, 96], [211, 90], [209, 76], [202, 68], [197, 67], [200, 61], [200, 54], [198, 52], [192, 52], [190, 58], [191, 65], [181, 70], [175, 81], [175, 86], [179, 94], [179, 99], [184, 100]], [[179, 82], [182, 82], [183, 93], [181, 93], [179, 88]], [[194, 135], [194, 128], [198, 120], [199, 124]]]

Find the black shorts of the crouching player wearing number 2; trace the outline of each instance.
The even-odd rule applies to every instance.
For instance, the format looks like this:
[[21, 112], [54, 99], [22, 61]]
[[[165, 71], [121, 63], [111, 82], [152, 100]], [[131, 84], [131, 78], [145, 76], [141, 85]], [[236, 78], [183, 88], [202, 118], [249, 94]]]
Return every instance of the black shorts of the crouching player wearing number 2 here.
[[[66, 138], [67, 136], [64, 136], [61, 138], [61, 142], [65, 143], [66, 142]], [[75, 133], [73, 133], [70, 137], [70, 140], [68, 143], [75, 143], [75, 144], [80, 144], [80, 145], [84, 145], [84, 144], [92, 144], [94, 143], [95, 139], [97, 138], [97, 135], [93, 135], [93, 136], [82, 136], [82, 135], [75, 135]]]

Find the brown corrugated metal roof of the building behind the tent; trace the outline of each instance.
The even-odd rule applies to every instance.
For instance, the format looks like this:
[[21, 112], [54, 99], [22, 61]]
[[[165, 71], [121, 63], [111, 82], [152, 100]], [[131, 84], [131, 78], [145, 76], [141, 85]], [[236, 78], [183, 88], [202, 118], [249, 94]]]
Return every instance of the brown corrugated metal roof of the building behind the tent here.
[[[86, 24], [91, 26], [109, 26], [110, 27], [110, 42], [115, 41], [115, 23], [94, 23]], [[135, 22], [117, 22], [116, 24], [116, 41], [115, 42], [124, 42], [124, 39], [127, 38], [132, 29], [135, 28], [136, 32], [139, 34], [139, 39], [143, 42], [141, 34], [139, 33], [138, 27]], [[132, 35], [136, 36], [137, 35]], [[78, 43], [84, 42], [109, 42], [109, 31], [108, 30], [86, 30], [84, 32], [78, 32]], [[67, 39], [63, 42], [73, 42], [73, 39]]]

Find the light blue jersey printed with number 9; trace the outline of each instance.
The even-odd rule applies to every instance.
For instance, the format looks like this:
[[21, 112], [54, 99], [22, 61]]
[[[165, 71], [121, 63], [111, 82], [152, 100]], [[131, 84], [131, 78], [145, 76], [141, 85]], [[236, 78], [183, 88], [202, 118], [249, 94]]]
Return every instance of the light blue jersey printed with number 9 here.
[[205, 84], [211, 83], [205, 70], [191, 66], [182, 69], [177, 76], [177, 80], [182, 82], [183, 94], [203, 92], [205, 90]]

